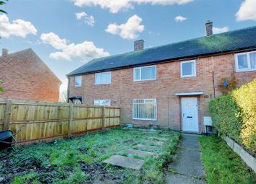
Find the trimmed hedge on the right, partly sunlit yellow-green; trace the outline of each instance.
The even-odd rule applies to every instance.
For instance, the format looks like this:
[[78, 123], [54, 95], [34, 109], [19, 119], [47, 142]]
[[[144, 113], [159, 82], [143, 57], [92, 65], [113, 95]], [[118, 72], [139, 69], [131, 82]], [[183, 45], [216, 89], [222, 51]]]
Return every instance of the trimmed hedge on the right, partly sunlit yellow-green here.
[[256, 79], [210, 101], [213, 126], [256, 153]]

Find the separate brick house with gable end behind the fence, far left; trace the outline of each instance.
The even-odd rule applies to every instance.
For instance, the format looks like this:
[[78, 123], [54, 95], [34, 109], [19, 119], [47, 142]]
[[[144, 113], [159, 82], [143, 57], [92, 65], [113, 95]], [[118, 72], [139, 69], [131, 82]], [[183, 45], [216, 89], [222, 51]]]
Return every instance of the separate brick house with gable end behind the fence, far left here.
[[59, 101], [61, 81], [31, 49], [0, 56], [0, 98], [32, 101]]

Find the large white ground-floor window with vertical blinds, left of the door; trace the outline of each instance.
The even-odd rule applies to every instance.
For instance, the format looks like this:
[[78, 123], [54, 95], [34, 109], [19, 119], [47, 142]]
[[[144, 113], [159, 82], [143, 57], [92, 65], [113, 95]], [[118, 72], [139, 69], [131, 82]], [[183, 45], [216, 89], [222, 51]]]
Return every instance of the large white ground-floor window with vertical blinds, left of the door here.
[[156, 121], [156, 99], [134, 99], [132, 102], [132, 119]]

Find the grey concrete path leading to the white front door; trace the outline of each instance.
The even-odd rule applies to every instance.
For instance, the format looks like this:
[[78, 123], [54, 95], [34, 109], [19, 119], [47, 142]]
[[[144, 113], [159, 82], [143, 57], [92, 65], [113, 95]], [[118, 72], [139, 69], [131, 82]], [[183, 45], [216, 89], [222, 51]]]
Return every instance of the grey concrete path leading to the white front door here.
[[182, 134], [182, 142], [174, 162], [169, 165], [166, 183], [206, 183], [197, 135]]

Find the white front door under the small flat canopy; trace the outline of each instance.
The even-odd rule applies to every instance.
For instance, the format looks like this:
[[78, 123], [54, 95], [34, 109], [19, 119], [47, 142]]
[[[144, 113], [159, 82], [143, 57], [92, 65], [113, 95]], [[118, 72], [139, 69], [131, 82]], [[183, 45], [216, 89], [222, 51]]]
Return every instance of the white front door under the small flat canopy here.
[[196, 97], [182, 98], [182, 131], [199, 131]]

